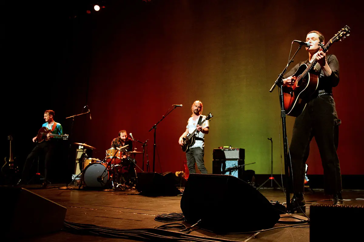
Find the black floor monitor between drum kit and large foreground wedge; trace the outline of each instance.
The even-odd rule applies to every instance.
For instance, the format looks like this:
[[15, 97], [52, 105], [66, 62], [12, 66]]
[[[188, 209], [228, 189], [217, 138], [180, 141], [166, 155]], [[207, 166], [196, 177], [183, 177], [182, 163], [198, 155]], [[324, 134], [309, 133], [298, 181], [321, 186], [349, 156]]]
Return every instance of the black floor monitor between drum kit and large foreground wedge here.
[[177, 196], [181, 192], [174, 185], [173, 173], [167, 172], [165, 176], [157, 172], [138, 173], [137, 190], [144, 196]]

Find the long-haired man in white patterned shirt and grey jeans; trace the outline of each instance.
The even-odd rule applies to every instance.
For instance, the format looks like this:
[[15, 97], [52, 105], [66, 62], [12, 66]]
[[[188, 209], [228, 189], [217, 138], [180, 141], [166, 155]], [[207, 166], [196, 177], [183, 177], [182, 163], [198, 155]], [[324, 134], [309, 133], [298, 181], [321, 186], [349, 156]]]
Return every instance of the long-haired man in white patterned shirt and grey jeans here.
[[[192, 145], [189, 151], [186, 152], [187, 167], [190, 174], [196, 173], [195, 163], [201, 173], [207, 173], [205, 163], [203, 161], [204, 147], [205, 147], [205, 134], [209, 134], [209, 120], [206, 120], [201, 124], [202, 120], [206, 119], [205, 115], [202, 115], [203, 104], [200, 101], [195, 101], [192, 104], [192, 115], [187, 121], [186, 131], [179, 137], [178, 143], [183, 145], [183, 138], [189, 133], [197, 129], [196, 141]], [[201, 124], [201, 125], [200, 125]]]

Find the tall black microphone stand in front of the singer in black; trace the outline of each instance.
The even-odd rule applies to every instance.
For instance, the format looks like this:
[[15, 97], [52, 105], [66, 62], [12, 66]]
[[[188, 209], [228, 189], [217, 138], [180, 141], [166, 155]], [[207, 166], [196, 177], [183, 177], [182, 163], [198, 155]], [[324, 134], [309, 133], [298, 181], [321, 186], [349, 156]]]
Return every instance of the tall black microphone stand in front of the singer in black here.
[[[274, 87], [276, 87], [278, 85], [279, 89], [280, 89], [280, 93], [279, 93], [279, 101], [280, 101], [280, 105], [281, 105], [281, 118], [282, 118], [282, 131], [283, 131], [283, 148], [284, 148], [284, 172], [286, 174], [287, 177], [287, 186], [289, 184], [289, 174], [292, 174], [292, 169], [289, 172], [288, 171], [288, 160], [287, 160], [287, 155], [288, 155], [288, 141], [287, 141], [287, 132], [286, 132], [286, 111], [284, 110], [284, 99], [283, 99], [283, 80], [282, 77], [283, 75], [286, 73], [288, 66], [290, 65], [290, 63], [293, 62], [293, 58], [294, 56], [296, 56], [297, 52], [301, 49], [302, 44], [300, 44], [300, 46], [298, 47], [298, 49], [296, 50], [296, 53], [294, 53], [294, 55], [292, 56], [292, 58], [288, 61], [286, 67], [284, 68], [284, 70], [282, 71], [281, 74], [278, 75], [277, 80], [274, 82], [273, 86], [270, 88], [269, 92], [271, 93], [274, 90]], [[291, 161], [289, 160], [289, 163]], [[292, 168], [292, 166], [290, 166]], [[293, 181], [292, 181], [293, 182]], [[287, 209], [290, 208], [290, 194], [289, 191], [286, 190], [286, 207]], [[290, 212], [287, 210], [287, 212]]]

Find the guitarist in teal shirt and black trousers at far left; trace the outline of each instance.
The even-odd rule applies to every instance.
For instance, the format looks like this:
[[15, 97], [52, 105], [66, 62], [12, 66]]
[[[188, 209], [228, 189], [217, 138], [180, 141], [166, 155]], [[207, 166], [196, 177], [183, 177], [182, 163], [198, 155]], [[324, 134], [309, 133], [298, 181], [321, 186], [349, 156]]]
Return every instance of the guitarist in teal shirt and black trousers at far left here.
[[[46, 123], [42, 125], [42, 127], [46, 127], [48, 130], [51, 130], [47, 134], [38, 134], [33, 138], [33, 142], [36, 142], [36, 146], [33, 150], [29, 153], [27, 159], [25, 160], [23, 172], [21, 173], [21, 179], [18, 182], [18, 185], [25, 185], [27, 184], [27, 179], [29, 178], [29, 172], [32, 167], [33, 161], [38, 159], [39, 155], [44, 155], [44, 182], [41, 185], [43, 188], [50, 183], [47, 180], [47, 168], [49, 162], [54, 159], [55, 151], [57, 146], [57, 140], [60, 139], [59, 137], [52, 136], [54, 135], [63, 135], [62, 125], [60, 123], [56, 123], [53, 119], [54, 111], [53, 110], [46, 110], [44, 112], [44, 120]], [[43, 128], [44, 129], [44, 128]], [[41, 130], [43, 130], [41, 129]]]

